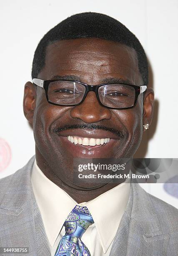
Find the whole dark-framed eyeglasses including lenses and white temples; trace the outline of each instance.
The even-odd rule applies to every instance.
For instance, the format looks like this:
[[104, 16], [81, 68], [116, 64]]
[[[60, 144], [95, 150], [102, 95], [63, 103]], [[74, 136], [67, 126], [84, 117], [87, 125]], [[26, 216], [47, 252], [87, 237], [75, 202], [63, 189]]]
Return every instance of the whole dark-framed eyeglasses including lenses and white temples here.
[[147, 86], [133, 84], [88, 85], [73, 80], [41, 80], [33, 78], [33, 83], [45, 89], [46, 99], [50, 104], [75, 106], [81, 104], [88, 92], [95, 92], [105, 108], [129, 109], [135, 107], [138, 95], [145, 92]]

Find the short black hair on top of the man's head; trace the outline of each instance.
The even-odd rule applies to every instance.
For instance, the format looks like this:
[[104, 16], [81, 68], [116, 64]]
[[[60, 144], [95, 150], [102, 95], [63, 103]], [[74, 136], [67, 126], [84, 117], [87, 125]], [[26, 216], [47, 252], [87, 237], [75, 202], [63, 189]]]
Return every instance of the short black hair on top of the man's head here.
[[78, 13], [63, 20], [40, 40], [34, 54], [32, 78], [45, 66], [46, 48], [59, 40], [75, 38], [103, 38], [135, 49], [138, 68], [144, 84], [148, 84], [148, 62], [145, 51], [136, 36], [122, 23], [101, 13]]

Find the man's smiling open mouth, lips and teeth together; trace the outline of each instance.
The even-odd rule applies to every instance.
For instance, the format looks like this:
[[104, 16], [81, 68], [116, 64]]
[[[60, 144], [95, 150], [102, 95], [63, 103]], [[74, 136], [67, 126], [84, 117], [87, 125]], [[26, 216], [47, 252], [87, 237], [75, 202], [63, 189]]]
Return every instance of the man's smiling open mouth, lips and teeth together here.
[[116, 134], [102, 129], [67, 129], [54, 135], [57, 135], [56, 147], [63, 146], [73, 158], [108, 158], [115, 145], [122, 141]]

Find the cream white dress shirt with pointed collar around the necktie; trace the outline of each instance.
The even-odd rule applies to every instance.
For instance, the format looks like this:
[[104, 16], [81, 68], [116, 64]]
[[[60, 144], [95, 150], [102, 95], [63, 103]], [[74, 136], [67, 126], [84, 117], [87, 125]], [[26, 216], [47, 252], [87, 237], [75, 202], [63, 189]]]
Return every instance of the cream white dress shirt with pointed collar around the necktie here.
[[89, 202], [78, 204], [43, 174], [36, 160], [33, 164], [31, 183], [49, 241], [51, 256], [55, 255], [60, 239], [65, 235], [63, 223], [75, 205], [86, 206], [94, 220], [81, 238], [91, 256], [109, 256], [128, 202], [130, 183], [124, 182]]

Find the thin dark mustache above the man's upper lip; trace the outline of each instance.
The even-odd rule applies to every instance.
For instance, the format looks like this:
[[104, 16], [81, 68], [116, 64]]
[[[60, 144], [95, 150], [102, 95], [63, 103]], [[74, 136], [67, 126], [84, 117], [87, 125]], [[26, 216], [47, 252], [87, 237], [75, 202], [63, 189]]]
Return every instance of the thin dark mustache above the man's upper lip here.
[[103, 125], [95, 125], [95, 124], [74, 124], [74, 125], [65, 125], [61, 127], [53, 127], [52, 131], [53, 133], [59, 133], [60, 131], [66, 131], [66, 130], [74, 130], [74, 129], [84, 129], [87, 128], [89, 130], [98, 129], [98, 130], [104, 130], [104, 131], [110, 131], [111, 133], [114, 133], [119, 138], [124, 138], [127, 136], [127, 131], [118, 131], [117, 129], [106, 127]]

